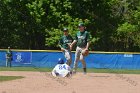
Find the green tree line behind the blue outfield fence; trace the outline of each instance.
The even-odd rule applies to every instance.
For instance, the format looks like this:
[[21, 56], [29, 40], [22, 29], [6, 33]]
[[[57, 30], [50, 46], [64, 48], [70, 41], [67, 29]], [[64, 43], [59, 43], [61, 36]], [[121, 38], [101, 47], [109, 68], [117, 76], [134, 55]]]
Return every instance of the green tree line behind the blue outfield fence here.
[[90, 50], [140, 51], [139, 0], [0, 0], [0, 48], [59, 49], [83, 22]]

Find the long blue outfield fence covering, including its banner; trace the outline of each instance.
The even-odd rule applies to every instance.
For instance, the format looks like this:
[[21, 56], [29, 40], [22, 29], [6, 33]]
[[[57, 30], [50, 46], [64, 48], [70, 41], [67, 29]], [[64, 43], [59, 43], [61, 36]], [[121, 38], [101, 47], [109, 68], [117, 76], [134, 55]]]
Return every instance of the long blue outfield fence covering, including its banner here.
[[[62, 52], [13, 51], [12, 66], [54, 67], [58, 58], [65, 59]], [[75, 53], [72, 53], [73, 67]], [[66, 61], [66, 59], [65, 59]], [[90, 53], [85, 57], [87, 68], [140, 69], [140, 54]], [[5, 51], [0, 51], [0, 66], [5, 66]], [[79, 61], [78, 67], [82, 68]]]

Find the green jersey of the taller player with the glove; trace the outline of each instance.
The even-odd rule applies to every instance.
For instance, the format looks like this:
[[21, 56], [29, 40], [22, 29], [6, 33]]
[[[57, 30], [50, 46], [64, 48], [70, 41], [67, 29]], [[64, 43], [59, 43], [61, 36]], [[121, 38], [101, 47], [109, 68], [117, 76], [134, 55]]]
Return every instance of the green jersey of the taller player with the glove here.
[[87, 42], [90, 41], [91, 35], [87, 31], [80, 32], [78, 31], [75, 37], [75, 40], [77, 41], [77, 46], [81, 48], [85, 48], [87, 45]]

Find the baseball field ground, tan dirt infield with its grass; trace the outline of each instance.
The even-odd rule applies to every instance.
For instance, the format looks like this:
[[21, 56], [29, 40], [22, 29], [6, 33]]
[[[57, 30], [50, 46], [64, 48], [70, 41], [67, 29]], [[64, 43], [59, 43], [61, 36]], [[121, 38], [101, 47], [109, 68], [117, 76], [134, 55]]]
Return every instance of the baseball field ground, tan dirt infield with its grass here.
[[0, 93], [140, 93], [140, 70], [81, 69], [54, 78], [51, 68], [0, 68]]

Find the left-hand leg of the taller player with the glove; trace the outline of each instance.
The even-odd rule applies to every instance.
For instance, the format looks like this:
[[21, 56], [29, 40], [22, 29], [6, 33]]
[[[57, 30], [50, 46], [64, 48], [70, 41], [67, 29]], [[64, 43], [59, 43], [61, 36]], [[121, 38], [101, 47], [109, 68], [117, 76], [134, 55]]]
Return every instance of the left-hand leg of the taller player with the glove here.
[[77, 63], [78, 63], [79, 58], [80, 58], [80, 49], [79, 49], [79, 47], [77, 47], [76, 52], [75, 52], [74, 66], [73, 66], [73, 72], [74, 73], [76, 73]]

